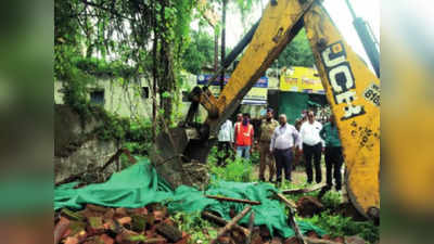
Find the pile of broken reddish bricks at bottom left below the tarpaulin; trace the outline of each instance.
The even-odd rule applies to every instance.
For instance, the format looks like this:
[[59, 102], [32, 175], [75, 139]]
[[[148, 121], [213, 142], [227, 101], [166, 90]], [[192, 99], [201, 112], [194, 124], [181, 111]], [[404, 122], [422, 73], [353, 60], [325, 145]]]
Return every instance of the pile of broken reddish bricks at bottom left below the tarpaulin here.
[[55, 217], [55, 244], [187, 244], [189, 237], [158, 204], [142, 208], [88, 204], [80, 211], [63, 208]]

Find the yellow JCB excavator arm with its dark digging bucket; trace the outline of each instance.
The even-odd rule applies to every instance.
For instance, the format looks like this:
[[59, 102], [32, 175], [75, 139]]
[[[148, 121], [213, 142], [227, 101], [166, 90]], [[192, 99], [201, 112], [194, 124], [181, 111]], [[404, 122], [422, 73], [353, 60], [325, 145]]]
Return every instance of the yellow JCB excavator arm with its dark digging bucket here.
[[[163, 131], [151, 152], [156, 170], [169, 184], [191, 184], [179, 174], [182, 166], [206, 163], [220, 125], [303, 27], [336, 118], [349, 200], [365, 217], [379, 217], [380, 79], [344, 40], [318, 0], [270, 1], [244, 40], [246, 50], [220, 95], [215, 98], [207, 86], [193, 89], [186, 123]], [[192, 123], [200, 104], [208, 112], [204, 124]]]

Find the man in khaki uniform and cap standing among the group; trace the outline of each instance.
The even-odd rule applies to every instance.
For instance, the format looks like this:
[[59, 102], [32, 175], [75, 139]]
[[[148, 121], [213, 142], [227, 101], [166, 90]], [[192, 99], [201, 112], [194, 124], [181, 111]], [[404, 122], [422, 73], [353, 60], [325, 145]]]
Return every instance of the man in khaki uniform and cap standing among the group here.
[[275, 129], [279, 126], [279, 123], [272, 118], [272, 108], [267, 108], [266, 118], [263, 119], [260, 124], [260, 134], [259, 134], [259, 154], [260, 154], [260, 165], [259, 165], [259, 180], [265, 181], [265, 170], [266, 166], [269, 167], [270, 179], [275, 177], [276, 167], [275, 158], [270, 152], [270, 141]]

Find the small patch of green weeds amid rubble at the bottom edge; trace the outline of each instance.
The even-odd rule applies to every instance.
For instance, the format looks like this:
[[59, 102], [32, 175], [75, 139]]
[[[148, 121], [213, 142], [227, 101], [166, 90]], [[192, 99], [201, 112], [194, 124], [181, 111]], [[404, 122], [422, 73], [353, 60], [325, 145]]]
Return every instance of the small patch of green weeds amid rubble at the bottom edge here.
[[216, 227], [204, 220], [201, 213], [177, 213], [171, 219], [182, 231], [191, 233], [189, 243], [205, 244], [217, 236]]

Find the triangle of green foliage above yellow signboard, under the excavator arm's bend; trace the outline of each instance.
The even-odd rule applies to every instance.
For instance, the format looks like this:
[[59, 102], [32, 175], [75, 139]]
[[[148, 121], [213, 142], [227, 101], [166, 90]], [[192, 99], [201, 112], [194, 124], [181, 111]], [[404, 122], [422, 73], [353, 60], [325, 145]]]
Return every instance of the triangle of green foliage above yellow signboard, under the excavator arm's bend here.
[[279, 59], [276, 61], [279, 67], [282, 66], [314, 66], [315, 59], [310, 49], [306, 31], [303, 28], [292, 42], [286, 46]]

